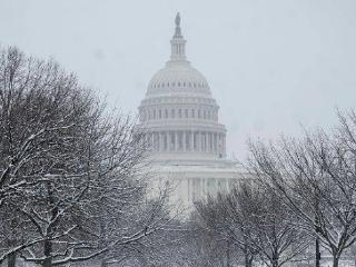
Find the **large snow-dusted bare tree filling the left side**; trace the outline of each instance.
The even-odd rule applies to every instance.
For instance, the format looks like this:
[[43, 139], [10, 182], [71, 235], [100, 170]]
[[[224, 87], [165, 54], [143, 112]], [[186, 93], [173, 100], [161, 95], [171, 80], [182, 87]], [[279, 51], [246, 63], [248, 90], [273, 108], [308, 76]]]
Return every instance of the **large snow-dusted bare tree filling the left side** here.
[[0, 57], [1, 224], [22, 229], [0, 240], [0, 264], [19, 253], [43, 267], [83, 261], [158, 229], [166, 197], [145, 198], [135, 121], [52, 61]]

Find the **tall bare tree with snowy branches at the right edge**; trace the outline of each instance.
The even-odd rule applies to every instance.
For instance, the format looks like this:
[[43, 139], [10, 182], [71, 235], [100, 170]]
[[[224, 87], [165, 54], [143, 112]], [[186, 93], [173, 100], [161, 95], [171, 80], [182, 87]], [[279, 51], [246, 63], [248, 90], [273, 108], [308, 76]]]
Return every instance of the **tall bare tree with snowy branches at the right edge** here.
[[323, 130], [280, 146], [250, 146], [253, 174], [284, 196], [296, 225], [317, 238], [337, 267], [356, 239], [355, 115], [339, 115], [334, 135]]

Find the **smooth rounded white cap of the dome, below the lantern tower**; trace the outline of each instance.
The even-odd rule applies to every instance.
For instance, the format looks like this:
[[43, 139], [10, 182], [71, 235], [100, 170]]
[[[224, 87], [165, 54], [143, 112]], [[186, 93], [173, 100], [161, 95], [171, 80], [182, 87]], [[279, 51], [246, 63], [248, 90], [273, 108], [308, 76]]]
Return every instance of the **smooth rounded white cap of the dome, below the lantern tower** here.
[[210, 96], [206, 78], [188, 61], [168, 61], [150, 80], [147, 96], [201, 93]]

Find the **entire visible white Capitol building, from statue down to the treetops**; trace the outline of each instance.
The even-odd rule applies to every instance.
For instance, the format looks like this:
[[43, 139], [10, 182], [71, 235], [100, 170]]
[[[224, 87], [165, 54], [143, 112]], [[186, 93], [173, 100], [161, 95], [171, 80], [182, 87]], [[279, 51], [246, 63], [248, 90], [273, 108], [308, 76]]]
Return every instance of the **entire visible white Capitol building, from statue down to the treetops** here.
[[148, 83], [139, 120], [157, 177], [174, 185], [171, 199], [189, 208], [228, 190], [241, 172], [226, 158], [227, 130], [209, 85], [187, 60], [179, 13], [175, 22], [170, 59]]

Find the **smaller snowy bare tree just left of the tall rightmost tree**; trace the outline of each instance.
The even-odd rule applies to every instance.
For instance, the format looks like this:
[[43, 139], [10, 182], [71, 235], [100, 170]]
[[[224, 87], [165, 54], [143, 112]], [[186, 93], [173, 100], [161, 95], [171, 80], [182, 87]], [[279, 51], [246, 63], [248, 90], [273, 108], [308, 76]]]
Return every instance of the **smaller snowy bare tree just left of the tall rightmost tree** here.
[[291, 214], [285, 208], [281, 196], [259, 184], [247, 184], [237, 197], [239, 204], [250, 212], [245, 227], [249, 228], [248, 239], [261, 261], [279, 267], [304, 259], [301, 255], [309, 239], [303, 229], [291, 224]]

